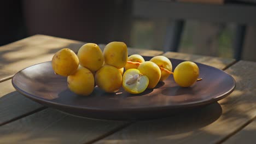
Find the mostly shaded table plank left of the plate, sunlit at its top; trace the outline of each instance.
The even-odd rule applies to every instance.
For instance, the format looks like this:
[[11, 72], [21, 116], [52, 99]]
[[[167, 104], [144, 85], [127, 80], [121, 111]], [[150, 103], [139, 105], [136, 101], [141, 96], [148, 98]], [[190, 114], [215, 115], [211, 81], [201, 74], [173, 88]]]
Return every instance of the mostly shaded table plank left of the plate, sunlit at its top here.
[[0, 125], [42, 109], [42, 105], [16, 92], [11, 80], [0, 83]]

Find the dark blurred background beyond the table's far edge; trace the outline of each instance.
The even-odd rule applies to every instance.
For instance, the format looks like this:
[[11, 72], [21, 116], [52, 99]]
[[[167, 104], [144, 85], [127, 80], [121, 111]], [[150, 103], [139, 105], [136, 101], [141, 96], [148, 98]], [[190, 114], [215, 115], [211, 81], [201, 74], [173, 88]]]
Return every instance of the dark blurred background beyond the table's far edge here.
[[256, 61], [256, 0], [4, 0], [0, 46], [45, 34]]

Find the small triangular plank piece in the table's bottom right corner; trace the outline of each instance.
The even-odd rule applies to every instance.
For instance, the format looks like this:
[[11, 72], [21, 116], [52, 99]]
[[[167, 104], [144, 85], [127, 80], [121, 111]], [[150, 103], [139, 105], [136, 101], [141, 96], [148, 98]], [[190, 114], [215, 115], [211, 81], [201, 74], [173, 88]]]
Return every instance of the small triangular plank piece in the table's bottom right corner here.
[[256, 119], [224, 143], [256, 143]]

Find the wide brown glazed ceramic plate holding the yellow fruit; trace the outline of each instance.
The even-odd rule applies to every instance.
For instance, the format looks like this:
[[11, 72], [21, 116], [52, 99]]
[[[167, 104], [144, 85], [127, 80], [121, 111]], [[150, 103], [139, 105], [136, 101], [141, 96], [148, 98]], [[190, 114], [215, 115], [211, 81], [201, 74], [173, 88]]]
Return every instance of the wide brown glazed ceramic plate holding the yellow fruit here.
[[[149, 60], [152, 57], [144, 57]], [[173, 69], [183, 62], [170, 59]], [[180, 110], [202, 106], [229, 95], [236, 82], [222, 70], [197, 63], [202, 81], [189, 88], [179, 87], [169, 76], [156, 88], [141, 94], [130, 94], [121, 88], [117, 93], [104, 93], [95, 87], [83, 97], [69, 91], [67, 77], [55, 75], [51, 62], [25, 68], [13, 77], [14, 88], [38, 103], [73, 115], [99, 119], [147, 119], [173, 115]], [[203, 109], [203, 107], [202, 107]]]

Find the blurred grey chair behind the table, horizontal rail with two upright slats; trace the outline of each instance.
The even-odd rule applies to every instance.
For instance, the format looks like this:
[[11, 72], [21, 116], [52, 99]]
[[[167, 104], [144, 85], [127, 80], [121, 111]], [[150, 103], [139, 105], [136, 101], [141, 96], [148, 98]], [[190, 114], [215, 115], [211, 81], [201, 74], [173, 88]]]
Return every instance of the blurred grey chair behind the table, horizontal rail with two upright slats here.
[[135, 1], [133, 13], [139, 17], [174, 19], [174, 22], [169, 22], [167, 26], [164, 51], [178, 51], [185, 20], [234, 22], [236, 23], [236, 32], [232, 47], [234, 58], [237, 61], [241, 59], [243, 52], [247, 25], [256, 23], [253, 15], [256, 14], [256, 7], [252, 4], [228, 3], [220, 5], [148, 0]]

